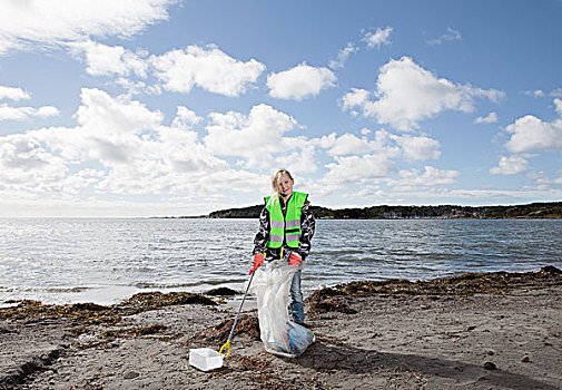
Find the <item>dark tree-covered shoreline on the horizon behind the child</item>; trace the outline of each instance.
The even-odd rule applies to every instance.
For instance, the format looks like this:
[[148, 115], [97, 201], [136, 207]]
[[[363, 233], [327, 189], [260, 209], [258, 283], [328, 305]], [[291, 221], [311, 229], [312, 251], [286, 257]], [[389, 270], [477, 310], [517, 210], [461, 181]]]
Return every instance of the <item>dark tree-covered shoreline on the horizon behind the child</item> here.
[[[263, 205], [213, 212], [209, 218], [257, 218]], [[404, 220], [404, 218], [562, 218], [562, 202], [515, 206], [371, 206], [331, 209], [310, 206], [321, 220]]]

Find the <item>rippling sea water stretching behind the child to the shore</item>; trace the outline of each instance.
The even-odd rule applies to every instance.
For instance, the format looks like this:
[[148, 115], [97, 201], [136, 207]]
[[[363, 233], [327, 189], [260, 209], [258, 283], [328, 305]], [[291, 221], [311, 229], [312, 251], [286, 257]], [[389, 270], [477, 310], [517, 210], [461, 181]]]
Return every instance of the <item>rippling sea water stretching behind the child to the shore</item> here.
[[[257, 220], [0, 220], [7, 300], [115, 303], [244, 287]], [[562, 267], [562, 221], [317, 221], [304, 290], [352, 280]]]

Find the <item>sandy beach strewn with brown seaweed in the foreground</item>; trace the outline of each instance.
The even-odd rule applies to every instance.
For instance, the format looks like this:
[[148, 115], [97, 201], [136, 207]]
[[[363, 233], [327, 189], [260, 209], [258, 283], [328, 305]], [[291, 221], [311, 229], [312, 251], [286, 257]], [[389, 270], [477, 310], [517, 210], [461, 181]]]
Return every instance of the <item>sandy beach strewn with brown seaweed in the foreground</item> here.
[[250, 305], [224, 367], [203, 372], [189, 349], [218, 350], [238, 302], [211, 293], [14, 302], [0, 310], [0, 389], [562, 389], [555, 267], [316, 291], [316, 342], [296, 359], [265, 352]]

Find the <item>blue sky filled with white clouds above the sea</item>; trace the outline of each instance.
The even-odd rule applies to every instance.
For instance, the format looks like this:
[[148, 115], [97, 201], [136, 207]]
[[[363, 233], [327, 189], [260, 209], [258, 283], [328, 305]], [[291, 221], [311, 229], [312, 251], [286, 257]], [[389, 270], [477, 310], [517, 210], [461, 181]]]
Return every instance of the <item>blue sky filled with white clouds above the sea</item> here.
[[0, 216], [562, 199], [562, 1], [0, 0]]

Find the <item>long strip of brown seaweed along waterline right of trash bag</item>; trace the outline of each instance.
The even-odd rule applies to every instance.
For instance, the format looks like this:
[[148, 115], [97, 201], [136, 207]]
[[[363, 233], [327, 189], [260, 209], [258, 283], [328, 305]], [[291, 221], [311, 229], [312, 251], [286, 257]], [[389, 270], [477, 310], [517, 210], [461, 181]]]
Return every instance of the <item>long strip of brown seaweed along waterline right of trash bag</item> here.
[[540, 289], [552, 284], [562, 284], [562, 271], [549, 265], [538, 272], [469, 272], [459, 276], [416, 282], [402, 279], [351, 282], [321, 289], [308, 296], [307, 302], [312, 312], [323, 313], [343, 311], [338, 310], [339, 299], [333, 299], [334, 296], [505, 294], [520, 287]]

